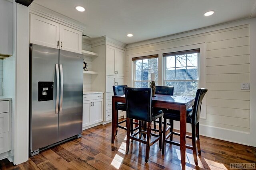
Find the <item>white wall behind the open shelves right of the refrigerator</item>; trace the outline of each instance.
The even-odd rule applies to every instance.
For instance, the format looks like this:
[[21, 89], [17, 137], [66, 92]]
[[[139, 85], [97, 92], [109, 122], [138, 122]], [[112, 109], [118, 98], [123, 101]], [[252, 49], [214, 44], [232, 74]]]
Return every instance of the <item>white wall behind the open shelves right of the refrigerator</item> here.
[[[92, 51], [92, 46], [89, 44], [82, 44], [82, 49], [86, 51]], [[88, 67], [88, 71], [92, 71], [92, 57], [84, 56], [84, 61], [86, 61]], [[84, 84], [83, 84], [83, 91], [92, 91], [92, 75], [91, 74], [84, 74]]]

